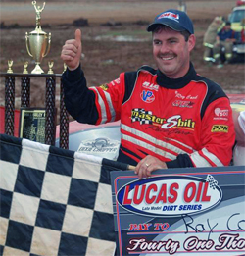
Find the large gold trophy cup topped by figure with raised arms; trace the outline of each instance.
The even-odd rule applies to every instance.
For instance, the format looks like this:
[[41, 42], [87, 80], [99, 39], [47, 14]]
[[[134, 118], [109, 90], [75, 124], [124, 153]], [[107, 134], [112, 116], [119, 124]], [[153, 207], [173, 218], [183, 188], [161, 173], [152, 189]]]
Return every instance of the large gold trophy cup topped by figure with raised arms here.
[[44, 9], [45, 2], [43, 3], [42, 8], [40, 6], [36, 7], [36, 1], [32, 1], [32, 5], [36, 12], [36, 27], [35, 30], [29, 34], [27, 32], [25, 33], [25, 43], [29, 56], [33, 57], [36, 64], [31, 73], [41, 74], [44, 73], [44, 71], [41, 69], [40, 64], [42, 62], [42, 58], [47, 56], [49, 53], [51, 33], [47, 35], [47, 33], [42, 31], [41, 28], [41, 12]]

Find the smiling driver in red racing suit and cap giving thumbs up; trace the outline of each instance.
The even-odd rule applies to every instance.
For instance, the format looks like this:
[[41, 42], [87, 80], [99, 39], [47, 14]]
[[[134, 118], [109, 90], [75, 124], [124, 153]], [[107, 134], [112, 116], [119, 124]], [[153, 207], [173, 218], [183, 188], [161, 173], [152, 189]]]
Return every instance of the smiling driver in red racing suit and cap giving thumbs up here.
[[136, 165], [139, 179], [157, 169], [228, 165], [235, 138], [229, 100], [190, 63], [196, 42], [191, 20], [170, 9], [147, 30], [158, 70], [143, 66], [89, 89], [79, 66], [76, 30], [61, 53], [68, 66], [63, 75], [67, 110], [81, 123], [121, 120], [118, 161]]

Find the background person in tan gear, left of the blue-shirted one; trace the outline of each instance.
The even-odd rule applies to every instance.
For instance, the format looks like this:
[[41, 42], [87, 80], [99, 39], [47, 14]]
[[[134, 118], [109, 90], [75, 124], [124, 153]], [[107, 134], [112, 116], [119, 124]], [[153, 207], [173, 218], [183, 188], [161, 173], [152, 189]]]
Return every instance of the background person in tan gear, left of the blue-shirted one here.
[[203, 59], [208, 63], [214, 63], [213, 48], [217, 38], [217, 32], [223, 25], [222, 17], [217, 16], [208, 27], [203, 37], [203, 45], [205, 46]]

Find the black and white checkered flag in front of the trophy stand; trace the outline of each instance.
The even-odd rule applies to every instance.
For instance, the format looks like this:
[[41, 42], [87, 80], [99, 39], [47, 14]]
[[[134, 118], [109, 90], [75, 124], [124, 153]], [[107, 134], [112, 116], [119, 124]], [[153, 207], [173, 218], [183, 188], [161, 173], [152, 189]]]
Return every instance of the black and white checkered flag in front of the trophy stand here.
[[114, 255], [99, 157], [0, 135], [0, 255]]

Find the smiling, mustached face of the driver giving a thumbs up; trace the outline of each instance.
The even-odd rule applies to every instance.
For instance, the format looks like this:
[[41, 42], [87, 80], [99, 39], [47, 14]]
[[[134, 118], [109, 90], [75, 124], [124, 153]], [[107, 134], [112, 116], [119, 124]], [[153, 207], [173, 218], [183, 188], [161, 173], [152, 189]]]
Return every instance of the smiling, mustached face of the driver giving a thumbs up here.
[[183, 77], [189, 70], [190, 52], [195, 46], [192, 34], [184, 36], [169, 27], [153, 32], [153, 57], [159, 70], [170, 78]]

